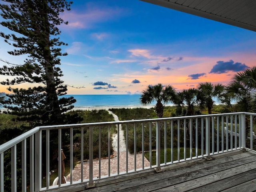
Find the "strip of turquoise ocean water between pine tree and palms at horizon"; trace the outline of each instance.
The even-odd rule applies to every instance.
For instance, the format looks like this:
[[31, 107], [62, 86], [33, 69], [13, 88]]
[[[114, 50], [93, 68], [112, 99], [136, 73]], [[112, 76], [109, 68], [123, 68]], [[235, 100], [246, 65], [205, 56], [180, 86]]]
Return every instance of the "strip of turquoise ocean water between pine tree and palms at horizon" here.
[[[65, 95], [76, 99], [75, 107], [135, 106], [140, 104], [139, 94], [131, 95]], [[152, 103], [154, 105], [154, 103]]]

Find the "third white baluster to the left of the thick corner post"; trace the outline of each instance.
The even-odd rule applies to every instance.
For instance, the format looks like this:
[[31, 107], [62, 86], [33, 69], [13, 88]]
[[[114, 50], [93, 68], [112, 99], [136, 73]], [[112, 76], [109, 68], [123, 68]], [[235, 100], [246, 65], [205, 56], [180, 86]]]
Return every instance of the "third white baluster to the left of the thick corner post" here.
[[11, 175], [12, 175], [12, 192], [17, 192], [17, 146], [12, 146], [11, 149]]

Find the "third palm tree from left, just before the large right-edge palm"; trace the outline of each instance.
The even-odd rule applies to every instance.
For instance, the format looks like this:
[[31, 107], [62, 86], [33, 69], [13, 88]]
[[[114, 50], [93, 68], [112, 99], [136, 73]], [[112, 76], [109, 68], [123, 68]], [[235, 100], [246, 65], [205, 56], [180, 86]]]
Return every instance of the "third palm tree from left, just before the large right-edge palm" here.
[[211, 82], [199, 83], [198, 90], [202, 91], [205, 95], [205, 103], [208, 108], [208, 114], [212, 114], [212, 107], [214, 104], [213, 97], [216, 97], [220, 100], [222, 93], [224, 91], [224, 85], [212, 84]]

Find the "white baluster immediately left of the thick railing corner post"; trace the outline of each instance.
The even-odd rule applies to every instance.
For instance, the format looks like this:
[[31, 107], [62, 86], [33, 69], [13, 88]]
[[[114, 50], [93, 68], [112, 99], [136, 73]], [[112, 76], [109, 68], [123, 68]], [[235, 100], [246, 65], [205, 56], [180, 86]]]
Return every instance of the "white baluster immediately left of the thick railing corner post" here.
[[34, 134], [30, 136], [29, 139], [30, 145], [30, 191], [34, 191]]

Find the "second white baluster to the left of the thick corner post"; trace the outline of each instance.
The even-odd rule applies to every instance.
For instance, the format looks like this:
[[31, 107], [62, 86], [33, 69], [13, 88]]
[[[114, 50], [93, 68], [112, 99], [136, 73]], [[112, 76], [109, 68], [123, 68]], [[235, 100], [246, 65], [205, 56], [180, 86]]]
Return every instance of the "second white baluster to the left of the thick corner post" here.
[[22, 192], [27, 191], [27, 139], [22, 141]]

